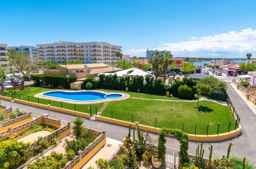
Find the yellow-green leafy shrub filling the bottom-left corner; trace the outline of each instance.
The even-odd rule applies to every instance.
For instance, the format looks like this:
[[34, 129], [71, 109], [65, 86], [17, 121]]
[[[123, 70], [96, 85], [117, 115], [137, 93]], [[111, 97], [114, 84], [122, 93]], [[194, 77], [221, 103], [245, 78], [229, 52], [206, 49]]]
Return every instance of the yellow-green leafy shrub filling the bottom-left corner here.
[[17, 141], [0, 142], [0, 168], [17, 168], [27, 161], [29, 144]]

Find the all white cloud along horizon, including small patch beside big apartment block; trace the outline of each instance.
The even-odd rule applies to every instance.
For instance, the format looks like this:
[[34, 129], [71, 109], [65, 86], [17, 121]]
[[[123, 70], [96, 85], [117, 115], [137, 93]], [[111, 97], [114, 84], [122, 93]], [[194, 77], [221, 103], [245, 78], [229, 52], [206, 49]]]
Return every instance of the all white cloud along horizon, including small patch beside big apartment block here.
[[[161, 42], [156, 49], [170, 50], [174, 57], [245, 57], [245, 53], [253, 54], [256, 51], [256, 30], [253, 29], [190, 39], [180, 43]], [[146, 49], [130, 49], [127, 52], [131, 55], [146, 55]]]

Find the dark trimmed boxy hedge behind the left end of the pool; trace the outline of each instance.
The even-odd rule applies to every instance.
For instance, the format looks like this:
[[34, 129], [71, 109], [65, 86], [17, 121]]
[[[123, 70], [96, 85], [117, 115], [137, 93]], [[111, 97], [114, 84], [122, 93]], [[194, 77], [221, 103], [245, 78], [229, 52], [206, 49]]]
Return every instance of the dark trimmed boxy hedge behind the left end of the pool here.
[[32, 75], [32, 80], [34, 80], [36, 86], [48, 86], [52, 85], [54, 88], [62, 86], [65, 89], [70, 89], [69, 82], [75, 82], [76, 77], [73, 75], [69, 76], [69, 82], [67, 81], [66, 75], [57, 74], [38, 74]]

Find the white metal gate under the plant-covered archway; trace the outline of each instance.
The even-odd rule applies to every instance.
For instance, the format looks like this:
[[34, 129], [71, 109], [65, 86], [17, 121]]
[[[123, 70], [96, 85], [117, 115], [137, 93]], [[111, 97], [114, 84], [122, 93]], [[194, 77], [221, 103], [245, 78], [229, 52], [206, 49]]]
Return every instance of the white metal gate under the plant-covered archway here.
[[166, 168], [178, 169], [179, 168], [179, 150], [172, 147], [166, 147], [165, 164]]

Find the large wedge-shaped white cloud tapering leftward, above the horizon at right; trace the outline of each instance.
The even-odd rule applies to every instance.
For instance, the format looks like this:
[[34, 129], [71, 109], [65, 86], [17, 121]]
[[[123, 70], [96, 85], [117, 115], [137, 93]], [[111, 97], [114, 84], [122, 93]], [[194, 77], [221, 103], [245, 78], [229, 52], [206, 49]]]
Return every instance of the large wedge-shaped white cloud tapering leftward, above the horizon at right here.
[[244, 29], [240, 32], [230, 31], [181, 43], [165, 43], [161, 44], [157, 50], [171, 50], [173, 53], [201, 51], [251, 52], [256, 50], [256, 30]]

